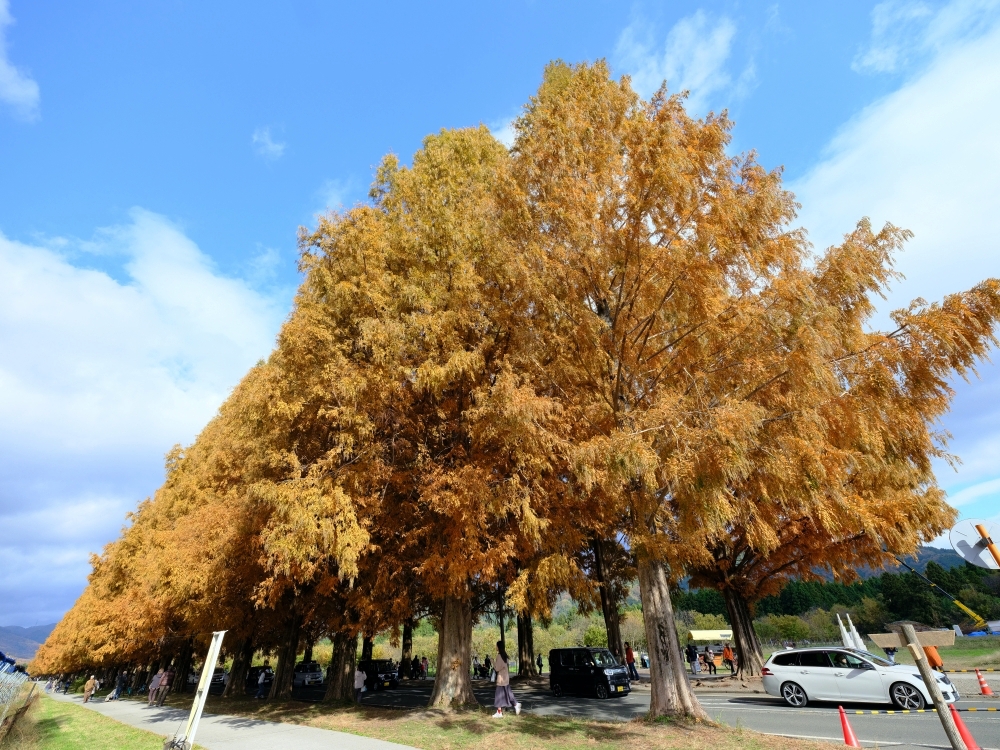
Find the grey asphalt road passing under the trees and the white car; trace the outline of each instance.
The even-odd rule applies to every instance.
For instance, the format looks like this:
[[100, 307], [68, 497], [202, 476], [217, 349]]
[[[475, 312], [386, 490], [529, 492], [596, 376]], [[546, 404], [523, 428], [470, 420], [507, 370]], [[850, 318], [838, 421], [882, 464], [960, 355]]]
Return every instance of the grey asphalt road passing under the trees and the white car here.
[[[476, 697], [484, 706], [493, 702], [493, 685], [486, 681], [473, 683]], [[523, 705], [523, 711], [546, 716], [579, 716], [604, 721], [628, 721], [642, 716], [649, 709], [649, 689], [640, 686], [631, 694], [598, 700], [585, 696], [556, 698], [541, 686], [514, 685], [514, 694]], [[363, 703], [370, 706], [418, 708], [427, 705], [431, 682], [403, 682], [394, 690], [366, 693]], [[780, 698], [747, 693], [724, 693], [718, 690], [696, 691], [712, 719], [730, 727], [745, 727], [766, 734], [786, 737], [829, 740], [841, 743], [843, 734], [836, 704], [816, 704], [806, 708], [790, 708]], [[305, 696], [303, 696], [305, 698]], [[1000, 701], [971, 696], [959, 701], [958, 708], [1000, 708]], [[844, 704], [847, 711], [892, 708], [879, 704]], [[986, 750], [1000, 750], [1000, 712], [962, 712], [979, 745]], [[944, 730], [937, 714], [879, 714], [848, 717], [854, 732], [866, 746], [876, 743], [879, 747], [898, 750], [917, 748], [948, 748]]]

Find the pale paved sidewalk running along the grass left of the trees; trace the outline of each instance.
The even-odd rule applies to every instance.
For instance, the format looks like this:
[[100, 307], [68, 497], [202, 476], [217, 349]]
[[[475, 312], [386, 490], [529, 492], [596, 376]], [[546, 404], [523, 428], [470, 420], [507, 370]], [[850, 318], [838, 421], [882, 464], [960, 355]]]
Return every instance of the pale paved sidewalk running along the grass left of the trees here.
[[[62, 693], [44, 693], [57, 701], [75, 703], [89, 708], [122, 724], [145, 729], [165, 737], [173, 737], [187, 723], [188, 712], [176, 708], [148, 708], [145, 701], [90, 701], [83, 703], [83, 696]], [[258, 721], [240, 716], [217, 716], [204, 713], [198, 724], [195, 744], [207, 750], [236, 750], [260, 747], [268, 750], [412, 750], [408, 745], [397, 745], [370, 737], [359, 737], [346, 732], [303, 727], [296, 724], [279, 724]]]

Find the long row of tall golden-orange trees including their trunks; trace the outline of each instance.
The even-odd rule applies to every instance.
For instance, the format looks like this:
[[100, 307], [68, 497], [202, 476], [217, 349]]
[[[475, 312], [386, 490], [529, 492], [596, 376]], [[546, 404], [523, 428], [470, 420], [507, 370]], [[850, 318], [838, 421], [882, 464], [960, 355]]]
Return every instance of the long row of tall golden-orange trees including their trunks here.
[[226, 628], [230, 684], [264, 649], [280, 696], [329, 635], [341, 697], [359, 635], [405, 649], [429, 615], [431, 704], [474, 703], [476, 618], [509, 608], [530, 649], [569, 591], [620, 649], [637, 577], [652, 713], [703, 717], [682, 576], [722, 594], [755, 670], [753, 602], [939, 534], [931, 425], [994, 343], [1000, 284], [870, 331], [909, 234], [862, 221], [813, 254], [730, 128], [555, 63], [512, 149], [480, 127], [386, 157], [370, 203], [303, 231], [275, 351], [170, 454], [34, 668], [189, 658]]

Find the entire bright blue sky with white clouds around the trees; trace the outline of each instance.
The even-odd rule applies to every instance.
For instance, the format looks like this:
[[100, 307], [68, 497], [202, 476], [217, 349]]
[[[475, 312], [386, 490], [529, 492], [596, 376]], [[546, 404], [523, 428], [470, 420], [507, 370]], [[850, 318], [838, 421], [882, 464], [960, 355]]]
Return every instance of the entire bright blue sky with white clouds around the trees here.
[[[0, 625], [58, 619], [164, 453], [270, 351], [298, 227], [429, 132], [509, 134], [556, 58], [728, 109], [819, 247], [865, 215], [914, 230], [883, 321], [1000, 276], [995, 1], [0, 0]], [[996, 518], [981, 374], [939, 480]]]

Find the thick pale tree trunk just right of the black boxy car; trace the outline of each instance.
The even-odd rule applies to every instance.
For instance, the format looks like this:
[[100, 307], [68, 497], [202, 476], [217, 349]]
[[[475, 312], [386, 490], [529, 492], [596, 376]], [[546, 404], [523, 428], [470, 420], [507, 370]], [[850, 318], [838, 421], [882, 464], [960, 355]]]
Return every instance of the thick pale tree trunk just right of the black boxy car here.
[[670, 586], [662, 563], [639, 554], [639, 593], [649, 649], [651, 695], [649, 715], [691, 717], [708, 720], [708, 714], [691, 692], [681, 647], [677, 641]]

